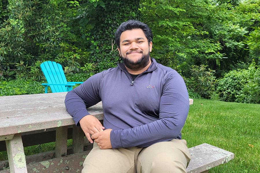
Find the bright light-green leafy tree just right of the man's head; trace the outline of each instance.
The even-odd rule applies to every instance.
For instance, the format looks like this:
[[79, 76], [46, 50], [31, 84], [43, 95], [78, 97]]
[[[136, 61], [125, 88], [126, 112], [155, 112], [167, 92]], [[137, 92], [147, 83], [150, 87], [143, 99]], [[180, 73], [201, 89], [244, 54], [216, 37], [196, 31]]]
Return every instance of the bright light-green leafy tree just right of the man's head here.
[[[144, 0], [141, 3], [145, 22], [151, 26], [155, 45], [158, 45], [153, 55], [159, 54], [161, 63], [177, 61], [182, 73], [189, 76], [189, 65], [206, 64], [216, 69], [219, 61], [225, 58], [212, 28], [230, 16], [225, 9], [227, 4], [216, 5], [217, 2], [211, 0]], [[167, 52], [172, 52], [170, 61]]]

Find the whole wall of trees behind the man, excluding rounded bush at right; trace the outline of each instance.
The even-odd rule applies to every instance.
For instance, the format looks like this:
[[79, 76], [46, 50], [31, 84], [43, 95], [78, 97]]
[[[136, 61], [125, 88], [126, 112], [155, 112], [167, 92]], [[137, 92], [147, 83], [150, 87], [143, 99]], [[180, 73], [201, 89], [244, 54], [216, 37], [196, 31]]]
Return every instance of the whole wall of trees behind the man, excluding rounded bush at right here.
[[190, 95], [215, 98], [215, 77], [247, 69], [252, 59], [259, 67], [259, 10], [258, 0], [3, 0], [0, 80], [41, 81], [40, 63], [49, 60], [62, 64], [65, 74], [91, 76], [115, 67], [121, 59], [114, 32], [136, 19], [153, 31], [151, 57], [176, 69]]

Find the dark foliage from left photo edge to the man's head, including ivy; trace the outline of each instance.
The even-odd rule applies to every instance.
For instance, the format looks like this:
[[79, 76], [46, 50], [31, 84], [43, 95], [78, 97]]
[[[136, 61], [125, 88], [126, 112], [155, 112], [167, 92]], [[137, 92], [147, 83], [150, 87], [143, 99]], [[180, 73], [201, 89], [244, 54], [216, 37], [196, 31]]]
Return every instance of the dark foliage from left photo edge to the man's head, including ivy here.
[[66, 73], [115, 67], [114, 32], [129, 18], [140, 20], [139, 1], [79, 2], [10, 1], [9, 18], [0, 24], [0, 78], [40, 80], [39, 65], [47, 60]]

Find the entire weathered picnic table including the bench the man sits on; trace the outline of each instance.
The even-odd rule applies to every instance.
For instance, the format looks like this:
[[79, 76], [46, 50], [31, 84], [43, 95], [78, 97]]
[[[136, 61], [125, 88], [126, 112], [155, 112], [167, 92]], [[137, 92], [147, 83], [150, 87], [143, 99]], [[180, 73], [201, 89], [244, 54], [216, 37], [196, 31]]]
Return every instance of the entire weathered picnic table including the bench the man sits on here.
[[[92, 144], [84, 144], [83, 131], [74, 125], [72, 117], [66, 112], [65, 95], [66, 92], [0, 97], [0, 141], [5, 141], [8, 152], [8, 161], [0, 162], [0, 173], [81, 171]], [[190, 104], [192, 103], [193, 100], [190, 99]], [[103, 120], [101, 103], [88, 111], [100, 121]], [[73, 138], [73, 146], [70, 148], [67, 148], [68, 127], [72, 129]], [[54, 129], [55, 151], [25, 157], [24, 137], [35, 133], [37, 136], [51, 131], [53, 133]], [[35, 144], [34, 140], [32, 143]], [[201, 144], [189, 150], [192, 155], [187, 168], [189, 173], [205, 172], [234, 157], [233, 153], [209, 144]]]

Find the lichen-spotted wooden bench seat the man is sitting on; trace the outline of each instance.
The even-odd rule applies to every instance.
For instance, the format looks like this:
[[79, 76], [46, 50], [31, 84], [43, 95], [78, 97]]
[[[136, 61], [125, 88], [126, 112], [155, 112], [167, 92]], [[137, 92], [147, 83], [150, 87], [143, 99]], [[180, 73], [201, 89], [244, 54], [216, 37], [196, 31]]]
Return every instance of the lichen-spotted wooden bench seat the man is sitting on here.
[[[88, 144], [88, 146], [90, 146], [90, 144]], [[71, 169], [71, 172], [80, 172], [82, 170], [82, 163], [90, 152], [90, 149], [91, 148], [86, 148], [86, 150], [81, 153], [70, 154], [66, 157], [58, 157], [48, 160], [44, 159], [41, 154], [35, 154], [35, 159], [33, 158], [33, 155], [26, 156], [26, 159], [28, 160], [38, 161], [37, 163], [27, 164], [28, 172], [35, 172], [36, 170], [41, 173], [49, 173], [57, 170], [62, 172], [66, 170], [66, 167]], [[233, 153], [209, 144], [200, 144], [189, 148], [189, 151], [192, 155], [192, 159], [187, 168], [187, 173], [206, 173], [210, 168], [227, 163], [234, 157]], [[46, 152], [44, 156], [49, 158], [53, 153], [54, 151], [49, 151]], [[39, 155], [41, 156], [39, 157]], [[37, 157], [43, 160], [39, 160]], [[0, 173], [9, 173], [9, 171], [2, 170]]]

